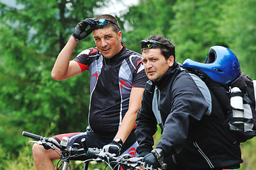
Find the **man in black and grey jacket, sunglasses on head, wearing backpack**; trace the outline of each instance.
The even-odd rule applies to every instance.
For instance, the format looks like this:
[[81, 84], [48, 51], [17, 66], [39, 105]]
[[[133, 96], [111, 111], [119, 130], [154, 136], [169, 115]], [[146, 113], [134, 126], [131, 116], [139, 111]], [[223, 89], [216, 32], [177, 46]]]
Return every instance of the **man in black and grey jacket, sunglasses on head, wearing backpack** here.
[[[240, 144], [224, 124], [230, 106], [226, 87], [213, 84], [217, 92], [207, 91], [204, 81], [175, 62], [174, 45], [162, 35], [143, 40], [141, 48], [150, 80], [138, 111], [135, 134], [145, 168], [239, 168], [243, 162]], [[152, 149], [157, 123], [162, 137]]]

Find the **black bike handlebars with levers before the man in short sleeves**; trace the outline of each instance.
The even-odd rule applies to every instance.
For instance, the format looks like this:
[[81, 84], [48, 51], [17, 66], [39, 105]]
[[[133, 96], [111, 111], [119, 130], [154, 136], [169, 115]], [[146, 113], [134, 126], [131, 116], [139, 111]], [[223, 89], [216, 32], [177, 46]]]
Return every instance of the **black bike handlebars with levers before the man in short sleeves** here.
[[109, 167], [109, 169], [120, 169], [121, 166], [124, 170], [140, 169], [140, 166], [143, 165], [142, 157], [132, 157], [130, 154], [123, 154], [116, 157], [116, 154], [103, 152], [101, 149], [88, 148], [85, 138], [82, 138], [81, 140], [81, 148], [77, 143], [74, 143], [72, 147], [67, 146], [69, 142], [68, 137], [62, 137], [62, 140], [60, 143], [58, 143], [48, 137], [42, 137], [30, 132], [23, 131], [22, 135], [37, 140], [30, 141], [29, 143], [37, 143], [38, 145], [43, 145], [45, 149], [52, 149], [57, 152], [57, 154], [60, 155], [60, 161], [56, 166], [57, 170], [71, 170], [69, 160], [74, 160], [76, 157], [86, 158], [84, 161], [84, 170], [88, 169], [89, 162], [105, 162], [106, 168]]

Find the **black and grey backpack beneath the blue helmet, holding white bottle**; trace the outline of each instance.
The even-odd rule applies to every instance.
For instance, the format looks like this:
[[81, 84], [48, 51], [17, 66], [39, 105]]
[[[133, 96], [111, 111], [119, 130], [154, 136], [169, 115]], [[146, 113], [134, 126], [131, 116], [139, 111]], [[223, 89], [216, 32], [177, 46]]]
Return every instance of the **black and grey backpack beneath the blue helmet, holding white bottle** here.
[[[214, 81], [200, 69], [184, 67], [188, 72], [196, 74], [200, 77], [208, 86], [211, 86], [210, 81]], [[220, 82], [214, 81], [218, 84]], [[240, 77], [231, 81], [229, 91], [227, 93], [230, 96], [230, 115], [228, 115], [228, 125], [230, 131], [235, 135], [238, 142], [245, 142], [256, 136], [256, 80], [250, 79], [248, 75], [244, 73], [240, 74]]]

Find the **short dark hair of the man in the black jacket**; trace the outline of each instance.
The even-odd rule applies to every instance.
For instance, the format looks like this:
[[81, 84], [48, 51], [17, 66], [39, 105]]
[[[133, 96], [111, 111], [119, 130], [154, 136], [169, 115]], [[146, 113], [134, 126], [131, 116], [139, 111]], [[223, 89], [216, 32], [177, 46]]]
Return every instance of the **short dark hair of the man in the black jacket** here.
[[[165, 59], [167, 60], [169, 56], [173, 56], [175, 60], [175, 46], [174, 44], [168, 39], [165, 38], [164, 35], [150, 35], [149, 38], [146, 38], [145, 40], [155, 40], [157, 42], [160, 42], [162, 45], [160, 45], [160, 50], [162, 55], [165, 56]], [[144, 50], [149, 50], [148, 48], [141, 49], [141, 52]]]

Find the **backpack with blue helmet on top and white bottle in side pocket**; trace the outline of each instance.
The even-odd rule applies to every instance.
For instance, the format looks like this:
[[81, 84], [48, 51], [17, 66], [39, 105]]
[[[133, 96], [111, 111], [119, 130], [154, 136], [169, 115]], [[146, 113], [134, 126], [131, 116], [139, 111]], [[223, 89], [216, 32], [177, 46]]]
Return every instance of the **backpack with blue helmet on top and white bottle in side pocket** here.
[[182, 67], [199, 76], [208, 89], [215, 83], [228, 87], [230, 110], [226, 113], [226, 123], [230, 131], [238, 142], [245, 142], [256, 136], [256, 81], [241, 73], [238, 58], [231, 50], [220, 45], [210, 47], [204, 63], [187, 59]]

